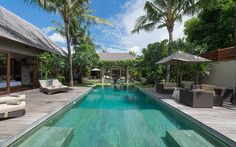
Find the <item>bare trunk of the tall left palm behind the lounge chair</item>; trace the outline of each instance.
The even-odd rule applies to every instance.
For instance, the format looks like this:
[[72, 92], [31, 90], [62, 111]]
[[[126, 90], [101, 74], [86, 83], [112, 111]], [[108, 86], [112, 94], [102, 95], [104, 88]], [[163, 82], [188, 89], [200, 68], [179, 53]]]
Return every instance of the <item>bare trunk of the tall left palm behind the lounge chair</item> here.
[[69, 63], [69, 86], [73, 86], [73, 71], [72, 71], [72, 54], [71, 54], [71, 44], [70, 44], [70, 20], [64, 20], [65, 23], [65, 33], [66, 33], [66, 42], [68, 49], [68, 63]]

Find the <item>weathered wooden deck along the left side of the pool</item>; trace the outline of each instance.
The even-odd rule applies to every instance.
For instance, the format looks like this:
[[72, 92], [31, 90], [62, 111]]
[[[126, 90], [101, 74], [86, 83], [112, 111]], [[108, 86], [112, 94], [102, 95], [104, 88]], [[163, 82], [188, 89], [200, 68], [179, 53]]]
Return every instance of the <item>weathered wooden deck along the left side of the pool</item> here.
[[26, 94], [26, 114], [23, 117], [0, 120], [0, 146], [2, 141], [29, 129], [33, 123], [46, 117], [49, 113], [59, 110], [69, 101], [89, 90], [89, 87], [74, 87], [69, 92], [53, 95], [41, 93], [39, 89], [19, 92]]

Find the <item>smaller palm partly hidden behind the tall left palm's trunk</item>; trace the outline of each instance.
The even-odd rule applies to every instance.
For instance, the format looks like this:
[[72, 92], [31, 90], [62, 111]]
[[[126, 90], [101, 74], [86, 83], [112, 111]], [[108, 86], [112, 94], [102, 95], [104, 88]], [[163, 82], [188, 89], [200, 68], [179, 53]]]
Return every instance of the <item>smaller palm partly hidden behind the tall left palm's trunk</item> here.
[[[78, 11], [77, 16], [73, 16], [71, 18], [71, 27], [70, 27], [70, 34], [71, 34], [71, 45], [73, 45], [75, 49], [75, 53], [80, 53], [83, 54], [83, 51], [80, 51], [79, 46], [83, 44], [93, 44], [93, 40], [91, 39], [89, 35], [89, 26], [91, 24], [104, 24], [108, 26], [112, 26], [112, 23], [109, 21], [100, 18], [98, 16], [95, 16], [92, 14], [93, 11], [89, 10], [87, 5], [84, 5], [83, 7], [80, 8], [80, 11]], [[56, 24], [55, 27], [51, 27], [52, 30], [57, 31], [60, 35], [65, 36], [65, 27], [64, 24], [58, 22], [58, 21], [53, 21], [54, 24]], [[74, 72], [73, 75], [76, 76], [76, 74], [81, 75], [81, 79], [83, 77], [83, 66], [81, 65], [75, 65], [74, 67], [80, 67], [80, 71]], [[82, 80], [81, 80], [82, 82]]]

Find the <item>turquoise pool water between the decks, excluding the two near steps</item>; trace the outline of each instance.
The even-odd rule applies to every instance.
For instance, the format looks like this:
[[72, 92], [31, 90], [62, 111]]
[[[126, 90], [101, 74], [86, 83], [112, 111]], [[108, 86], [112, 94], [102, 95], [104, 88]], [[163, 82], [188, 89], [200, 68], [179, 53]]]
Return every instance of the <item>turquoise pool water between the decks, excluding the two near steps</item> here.
[[[216, 143], [211, 135], [132, 87], [95, 87], [46, 125], [73, 128], [73, 137], [66, 145], [70, 147], [166, 147], [168, 130], [194, 130]], [[31, 135], [23, 137], [21, 143]]]

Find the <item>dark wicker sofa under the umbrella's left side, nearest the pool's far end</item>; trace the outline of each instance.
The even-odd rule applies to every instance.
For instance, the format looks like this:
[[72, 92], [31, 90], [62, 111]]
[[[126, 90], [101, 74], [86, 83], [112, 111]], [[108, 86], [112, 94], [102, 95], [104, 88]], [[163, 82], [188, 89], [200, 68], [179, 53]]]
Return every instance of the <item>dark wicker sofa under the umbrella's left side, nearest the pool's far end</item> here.
[[158, 83], [156, 84], [156, 91], [162, 94], [172, 94], [177, 88], [176, 83]]

